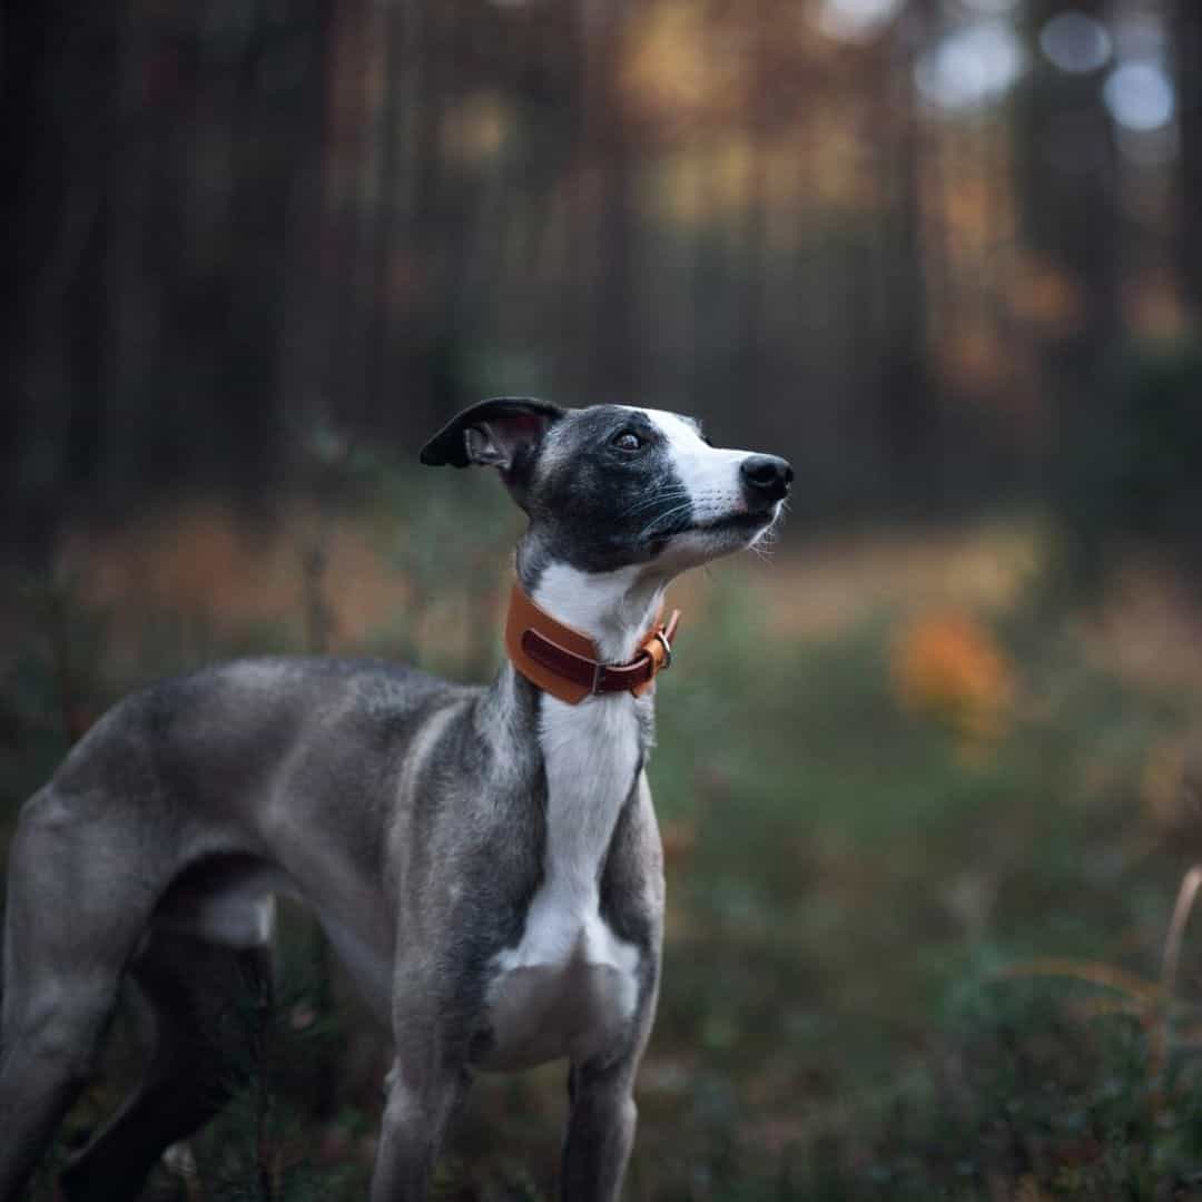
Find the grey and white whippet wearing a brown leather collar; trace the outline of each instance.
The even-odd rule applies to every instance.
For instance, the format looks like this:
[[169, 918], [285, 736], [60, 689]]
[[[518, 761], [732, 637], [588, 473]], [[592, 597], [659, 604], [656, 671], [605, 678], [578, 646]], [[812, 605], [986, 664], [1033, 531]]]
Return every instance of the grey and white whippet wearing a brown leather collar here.
[[[529, 516], [490, 686], [260, 659], [121, 702], [23, 808], [4, 944], [0, 1198], [93, 1071], [118, 984], [151, 1004], [145, 1079], [61, 1179], [138, 1194], [254, 1048], [273, 899], [320, 920], [392, 1030], [374, 1202], [426, 1196], [474, 1069], [570, 1061], [561, 1196], [613, 1200], [655, 1011], [664, 873], [644, 773], [665, 585], [748, 547], [792, 469], [688, 417], [482, 401], [422, 451], [499, 469]], [[254, 1007], [251, 1007], [254, 1008]], [[242, 1070], [243, 1072], [245, 1069]]]

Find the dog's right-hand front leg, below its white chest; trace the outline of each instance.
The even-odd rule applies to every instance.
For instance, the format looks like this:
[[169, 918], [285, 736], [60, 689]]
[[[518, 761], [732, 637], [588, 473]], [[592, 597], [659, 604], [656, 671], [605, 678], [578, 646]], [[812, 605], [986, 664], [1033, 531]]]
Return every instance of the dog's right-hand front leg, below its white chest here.
[[596, 1067], [572, 1065], [571, 1113], [559, 1195], [564, 1202], [617, 1202], [635, 1144], [637, 1058]]

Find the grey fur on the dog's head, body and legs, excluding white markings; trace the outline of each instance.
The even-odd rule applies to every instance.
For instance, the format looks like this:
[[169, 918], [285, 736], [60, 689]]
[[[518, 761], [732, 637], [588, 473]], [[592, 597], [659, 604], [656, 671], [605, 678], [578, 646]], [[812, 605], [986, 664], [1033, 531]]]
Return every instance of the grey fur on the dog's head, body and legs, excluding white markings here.
[[[630, 427], [648, 439], [639, 463], [613, 450]], [[423, 459], [501, 469], [530, 514], [518, 571], [532, 590], [555, 564], [654, 563], [688, 531], [656, 429], [617, 406], [494, 400], [456, 418]], [[755, 505], [762, 529], [779, 506]], [[667, 514], [659, 526], [656, 511]], [[733, 534], [707, 525], [694, 536], [712, 547], [701, 558], [748, 541], [745, 514], [731, 522]], [[643, 774], [651, 701], [627, 701], [636, 768], [597, 897], [606, 928], [637, 950], [636, 1001], [629, 1017], [593, 1013], [597, 970], [582, 962], [578, 975], [573, 960], [557, 978], [557, 1005], [588, 1016], [600, 1048], [571, 1066], [561, 1194], [572, 1200], [618, 1196], [659, 987], [662, 857]], [[424, 1197], [471, 1071], [520, 1059], [498, 1046], [488, 990], [549, 867], [542, 706], [508, 665], [484, 688], [383, 662], [262, 659], [114, 707], [25, 804], [12, 847], [0, 1200], [16, 1202], [93, 1071], [126, 974], [156, 1013], [157, 1046], [138, 1093], [73, 1158], [66, 1196], [136, 1196], [165, 1147], [220, 1108], [256, 1041], [252, 1020], [224, 1016], [248, 984], [267, 1005], [275, 894], [317, 915], [392, 1028], [371, 1198]], [[522, 996], [513, 980], [511, 1000]]]

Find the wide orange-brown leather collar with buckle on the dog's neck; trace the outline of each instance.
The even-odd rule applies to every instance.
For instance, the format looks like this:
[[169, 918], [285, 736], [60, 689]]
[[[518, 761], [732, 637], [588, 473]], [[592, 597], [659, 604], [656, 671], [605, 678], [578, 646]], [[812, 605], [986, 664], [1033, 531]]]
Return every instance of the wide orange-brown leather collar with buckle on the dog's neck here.
[[672, 662], [680, 611], [673, 609], [666, 624], [662, 617], [661, 609], [629, 664], [602, 664], [588, 635], [540, 609], [514, 581], [505, 623], [505, 649], [531, 684], [570, 706], [601, 692], [632, 692], [641, 697]]

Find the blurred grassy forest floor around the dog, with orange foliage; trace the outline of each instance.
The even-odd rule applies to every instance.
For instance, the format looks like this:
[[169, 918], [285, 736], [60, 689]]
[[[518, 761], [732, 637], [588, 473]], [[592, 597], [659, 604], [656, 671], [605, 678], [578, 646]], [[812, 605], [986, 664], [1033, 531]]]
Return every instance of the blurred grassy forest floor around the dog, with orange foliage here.
[[[73, 589], [37, 585], [14, 609], [28, 637], [0, 662], [0, 829], [64, 726], [196, 660], [315, 642], [411, 654], [421, 633], [430, 666], [478, 672], [494, 649], [454, 631], [492, 613], [504, 564], [448, 531], [480, 501], [406, 511], [442, 531], [450, 578], [474, 582], [451, 620], [445, 565], [376, 554], [404, 495], [258, 548], [281, 579], [300, 564], [279, 584], [291, 624], [264, 625], [269, 606], [239, 624], [220, 601], [182, 615], [169, 591], [129, 629], [88, 618], [100, 563], [103, 600], [124, 605], [119, 557], [77, 548]], [[209, 577], [220, 594], [222, 572], [254, 575], [215, 545], [194, 601]], [[665, 989], [627, 1197], [1202, 1197], [1202, 954], [1188, 928], [1170, 934], [1202, 847], [1192, 627], [1155, 608], [1170, 593], [1144, 570], [1088, 619], [1049, 601], [1047, 552], [1036, 528], [1002, 523], [732, 563], [680, 590], [650, 767]], [[267, 1073], [194, 1141], [195, 1174], [160, 1171], [156, 1196], [363, 1195], [382, 1045], [314, 946], [291, 916]], [[113, 1103], [133, 1043], [123, 1019], [67, 1142]], [[551, 1196], [563, 1076], [481, 1078], [440, 1196]]]

